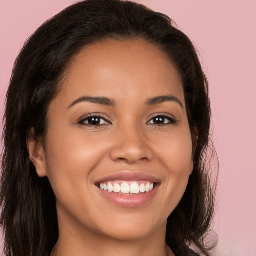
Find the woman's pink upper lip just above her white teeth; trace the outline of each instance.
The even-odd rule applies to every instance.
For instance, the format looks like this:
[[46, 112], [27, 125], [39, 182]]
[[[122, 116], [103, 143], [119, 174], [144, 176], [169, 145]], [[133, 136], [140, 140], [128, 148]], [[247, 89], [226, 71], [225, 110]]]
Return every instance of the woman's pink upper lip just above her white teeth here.
[[148, 180], [153, 183], [160, 183], [159, 178], [144, 172], [122, 171], [107, 177], [100, 178], [95, 181], [95, 184], [105, 182], [105, 181], [110, 181], [110, 180], [125, 180], [125, 181]]

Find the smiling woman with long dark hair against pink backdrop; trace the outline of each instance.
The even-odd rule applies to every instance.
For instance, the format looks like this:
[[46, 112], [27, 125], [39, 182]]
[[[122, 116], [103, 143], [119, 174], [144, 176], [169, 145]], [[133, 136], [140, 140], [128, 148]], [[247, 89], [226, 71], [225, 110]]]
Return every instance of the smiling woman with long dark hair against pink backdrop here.
[[87, 0], [45, 22], [7, 92], [6, 255], [210, 255], [210, 105], [166, 15]]

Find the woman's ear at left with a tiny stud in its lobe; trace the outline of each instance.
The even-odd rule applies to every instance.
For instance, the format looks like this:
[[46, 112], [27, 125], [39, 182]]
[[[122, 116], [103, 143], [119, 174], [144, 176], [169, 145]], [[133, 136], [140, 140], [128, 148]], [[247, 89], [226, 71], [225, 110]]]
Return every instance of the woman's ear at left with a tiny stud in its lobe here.
[[47, 173], [43, 142], [39, 138], [35, 137], [33, 127], [27, 132], [26, 147], [28, 150], [29, 159], [33, 163], [38, 176], [46, 176]]

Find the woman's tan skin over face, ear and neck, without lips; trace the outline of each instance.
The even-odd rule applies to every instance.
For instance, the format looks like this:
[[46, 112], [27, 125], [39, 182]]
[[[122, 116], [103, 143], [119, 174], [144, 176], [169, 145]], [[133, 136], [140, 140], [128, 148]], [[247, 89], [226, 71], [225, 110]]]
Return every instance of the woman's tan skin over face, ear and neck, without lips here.
[[[169, 94], [182, 106], [145, 103]], [[82, 96], [116, 104], [69, 107]], [[91, 113], [103, 124], [80, 122]], [[163, 114], [177, 122], [167, 117], [155, 123], [153, 117]], [[162, 50], [139, 39], [86, 46], [49, 106], [46, 135], [29, 136], [27, 145], [38, 175], [48, 177], [56, 195], [59, 239], [51, 256], [174, 255], [165, 245], [166, 221], [193, 169], [192, 141], [181, 78]], [[149, 202], [128, 208], [101, 196], [95, 180], [124, 170], [160, 180]]]

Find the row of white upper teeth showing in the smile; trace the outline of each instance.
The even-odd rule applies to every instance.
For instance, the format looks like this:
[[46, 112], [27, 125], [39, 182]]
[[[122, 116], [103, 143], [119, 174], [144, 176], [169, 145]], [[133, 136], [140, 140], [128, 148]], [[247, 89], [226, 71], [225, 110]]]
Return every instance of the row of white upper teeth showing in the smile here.
[[[113, 183], [114, 181], [112, 181]], [[144, 192], [149, 192], [154, 188], [154, 184], [152, 182], [147, 182], [145, 183], [141, 183], [140, 185], [138, 185], [137, 182], [129, 182], [131, 183], [129, 185], [128, 182], [122, 182], [121, 185], [119, 185], [118, 183], [114, 183], [112, 185], [112, 183], [107, 182], [107, 185], [105, 183], [100, 183], [99, 187], [100, 189], [103, 189], [105, 191], [108, 192], [115, 192], [115, 193], [131, 193], [131, 194], [137, 194], [137, 193], [144, 193]], [[120, 183], [120, 182], [119, 182]]]

